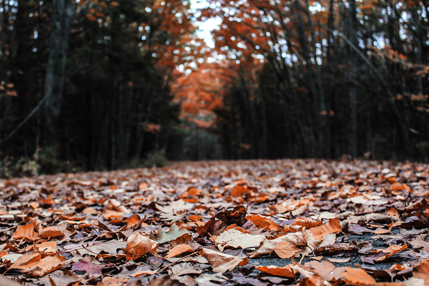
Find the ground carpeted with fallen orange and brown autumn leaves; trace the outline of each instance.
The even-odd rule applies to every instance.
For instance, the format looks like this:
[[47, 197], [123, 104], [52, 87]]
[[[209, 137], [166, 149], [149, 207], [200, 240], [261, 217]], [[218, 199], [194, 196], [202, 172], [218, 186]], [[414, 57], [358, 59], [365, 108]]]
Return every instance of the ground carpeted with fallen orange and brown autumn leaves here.
[[1, 180], [0, 285], [428, 285], [428, 182], [326, 160]]

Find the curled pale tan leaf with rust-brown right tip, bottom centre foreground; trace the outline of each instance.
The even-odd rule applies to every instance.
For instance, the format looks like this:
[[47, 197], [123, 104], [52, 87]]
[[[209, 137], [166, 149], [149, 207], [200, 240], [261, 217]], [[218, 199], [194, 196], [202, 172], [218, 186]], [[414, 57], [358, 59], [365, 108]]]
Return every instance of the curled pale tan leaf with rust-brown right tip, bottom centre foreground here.
[[246, 265], [249, 261], [247, 258], [221, 253], [208, 248], [202, 248], [201, 254], [208, 260], [213, 271], [220, 273], [231, 271], [238, 265]]

